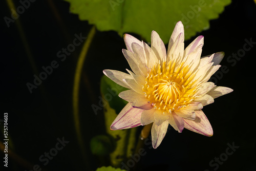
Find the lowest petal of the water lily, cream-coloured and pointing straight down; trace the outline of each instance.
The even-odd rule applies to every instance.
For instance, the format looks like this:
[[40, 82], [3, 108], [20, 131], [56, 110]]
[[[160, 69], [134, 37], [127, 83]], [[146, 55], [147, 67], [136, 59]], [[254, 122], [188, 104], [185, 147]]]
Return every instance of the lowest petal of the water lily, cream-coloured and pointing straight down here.
[[151, 129], [153, 148], [156, 149], [161, 144], [166, 134], [168, 125], [169, 123], [167, 120], [164, 121], [161, 125], [157, 125], [155, 122], [153, 123], [152, 129]]

